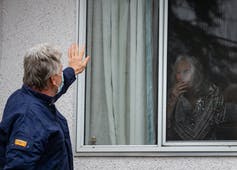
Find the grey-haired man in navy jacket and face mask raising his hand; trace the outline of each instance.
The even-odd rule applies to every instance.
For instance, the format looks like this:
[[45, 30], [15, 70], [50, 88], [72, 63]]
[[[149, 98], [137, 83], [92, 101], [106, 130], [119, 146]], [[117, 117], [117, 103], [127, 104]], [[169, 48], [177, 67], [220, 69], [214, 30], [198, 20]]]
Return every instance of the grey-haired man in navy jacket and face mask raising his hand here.
[[61, 52], [40, 44], [24, 57], [23, 86], [8, 99], [0, 123], [0, 169], [72, 170], [66, 119], [54, 103], [84, 71], [84, 48], [68, 49], [69, 67], [62, 71]]

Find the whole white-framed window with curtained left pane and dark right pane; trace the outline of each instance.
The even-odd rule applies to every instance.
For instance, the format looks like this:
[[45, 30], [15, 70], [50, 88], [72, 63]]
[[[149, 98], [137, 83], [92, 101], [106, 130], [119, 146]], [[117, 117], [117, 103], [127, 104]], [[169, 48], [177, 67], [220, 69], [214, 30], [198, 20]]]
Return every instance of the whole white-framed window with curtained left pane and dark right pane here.
[[234, 0], [78, 2], [77, 152], [236, 151]]

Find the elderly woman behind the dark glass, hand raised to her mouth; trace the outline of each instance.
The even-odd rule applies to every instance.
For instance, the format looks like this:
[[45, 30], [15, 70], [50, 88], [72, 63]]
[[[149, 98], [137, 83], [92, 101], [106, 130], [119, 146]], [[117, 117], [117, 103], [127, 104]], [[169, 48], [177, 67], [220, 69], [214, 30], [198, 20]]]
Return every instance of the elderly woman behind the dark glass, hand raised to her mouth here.
[[191, 56], [174, 64], [167, 103], [167, 140], [214, 140], [215, 126], [224, 120], [225, 105], [219, 88], [203, 74]]

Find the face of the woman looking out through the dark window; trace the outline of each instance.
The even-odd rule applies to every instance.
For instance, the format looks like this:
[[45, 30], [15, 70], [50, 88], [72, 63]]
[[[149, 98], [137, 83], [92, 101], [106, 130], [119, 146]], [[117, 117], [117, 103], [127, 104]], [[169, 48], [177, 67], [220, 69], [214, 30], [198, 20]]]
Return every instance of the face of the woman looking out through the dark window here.
[[193, 69], [190, 63], [186, 60], [178, 62], [176, 67], [176, 81], [177, 82], [191, 82], [193, 76]]

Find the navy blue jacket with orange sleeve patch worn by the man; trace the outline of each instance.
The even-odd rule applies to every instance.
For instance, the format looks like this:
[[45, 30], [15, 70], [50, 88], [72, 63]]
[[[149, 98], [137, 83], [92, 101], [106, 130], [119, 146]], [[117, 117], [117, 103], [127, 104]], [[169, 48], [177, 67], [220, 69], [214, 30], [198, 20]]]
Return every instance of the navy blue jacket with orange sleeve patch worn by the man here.
[[66, 119], [54, 102], [75, 81], [63, 71], [64, 87], [55, 97], [23, 85], [8, 99], [0, 123], [0, 170], [72, 170], [73, 156]]

